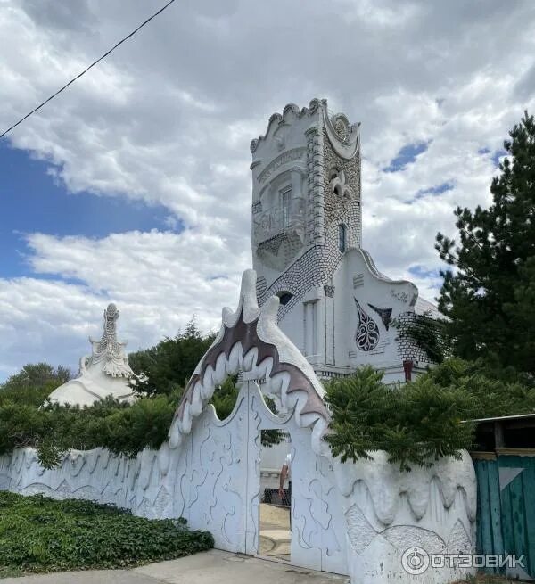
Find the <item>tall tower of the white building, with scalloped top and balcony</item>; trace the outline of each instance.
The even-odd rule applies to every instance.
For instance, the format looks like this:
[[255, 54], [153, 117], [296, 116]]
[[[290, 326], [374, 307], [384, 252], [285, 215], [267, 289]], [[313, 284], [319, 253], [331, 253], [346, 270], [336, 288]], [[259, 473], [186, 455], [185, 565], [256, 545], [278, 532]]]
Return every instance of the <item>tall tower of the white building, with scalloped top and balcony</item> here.
[[314, 99], [301, 110], [286, 105], [251, 141], [260, 303], [273, 293], [292, 303], [310, 286], [328, 284], [342, 255], [360, 247], [359, 126]]

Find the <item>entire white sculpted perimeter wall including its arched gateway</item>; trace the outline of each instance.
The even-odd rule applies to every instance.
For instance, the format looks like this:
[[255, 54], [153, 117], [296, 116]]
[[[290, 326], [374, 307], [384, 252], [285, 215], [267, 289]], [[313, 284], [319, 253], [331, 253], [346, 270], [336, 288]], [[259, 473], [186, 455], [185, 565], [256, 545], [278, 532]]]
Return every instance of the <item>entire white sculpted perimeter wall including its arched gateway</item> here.
[[[193, 529], [209, 530], [219, 549], [257, 555], [261, 431], [276, 429], [289, 433], [292, 448], [292, 565], [347, 574], [351, 584], [465, 579], [472, 571], [458, 565], [430, 566], [415, 577], [402, 559], [415, 547], [473, 553], [476, 484], [468, 453], [412, 473], [381, 451], [356, 464], [334, 458], [323, 440], [330, 422], [323, 386], [278, 327], [278, 301], [259, 307], [256, 284], [252, 270], [243, 274], [238, 307], [223, 310], [169, 441], [157, 452], [127, 459], [102, 448], [73, 450], [58, 468], [45, 470], [35, 450], [17, 449], [0, 457], [0, 489], [93, 499], [152, 518], [184, 517]], [[339, 288], [327, 293], [335, 300]], [[238, 371], [234, 410], [221, 421], [210, 399]], [[261, 387], [255, 379], [264, 380]], [[266, 405], [266, 394], [276, 396], [279, 415]]]

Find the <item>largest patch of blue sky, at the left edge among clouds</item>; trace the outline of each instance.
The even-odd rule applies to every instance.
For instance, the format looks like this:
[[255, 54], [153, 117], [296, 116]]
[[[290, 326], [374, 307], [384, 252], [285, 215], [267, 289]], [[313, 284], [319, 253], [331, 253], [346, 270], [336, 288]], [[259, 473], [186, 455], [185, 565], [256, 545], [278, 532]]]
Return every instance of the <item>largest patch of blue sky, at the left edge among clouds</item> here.
[[26, 234], [101, 238], [111, 233], [169, 228], [169, 210], [126, 197], [69, 193], [53, 166], [0, 141], [0, 275], [29, 276]]

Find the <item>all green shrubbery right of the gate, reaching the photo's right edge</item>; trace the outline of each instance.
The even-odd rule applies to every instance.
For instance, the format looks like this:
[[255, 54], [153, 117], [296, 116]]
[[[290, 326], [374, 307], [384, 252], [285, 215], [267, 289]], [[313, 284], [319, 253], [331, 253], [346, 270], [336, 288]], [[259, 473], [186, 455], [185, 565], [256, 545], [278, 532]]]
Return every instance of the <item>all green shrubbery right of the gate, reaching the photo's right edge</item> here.
[[452, 358], [400, 386], [382, 380], [366, 366], [327, 385], [333, 419], [326, 440], [342, 460], [385, 450], [403, 470], [429, 465], [432, 459], [475, 448], [470, 420], [535, 412], [529, 377], [481, 360]]

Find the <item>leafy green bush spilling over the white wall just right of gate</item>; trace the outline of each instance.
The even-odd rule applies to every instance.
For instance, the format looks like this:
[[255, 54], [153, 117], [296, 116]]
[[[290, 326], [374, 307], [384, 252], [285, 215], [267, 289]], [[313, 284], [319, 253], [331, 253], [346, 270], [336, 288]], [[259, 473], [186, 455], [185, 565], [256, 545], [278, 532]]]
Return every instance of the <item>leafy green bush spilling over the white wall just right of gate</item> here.
[[384, 450], [401, 470], [458, 457], [473, 441], [476, 400], [464, 385], [440, 386], [431, 374], [402, 386], [383, 383], [365, 366], [351, 377], [328, 383], [325, 401], [332, 414], [325, 437], [334, 456], [356, 461]]

